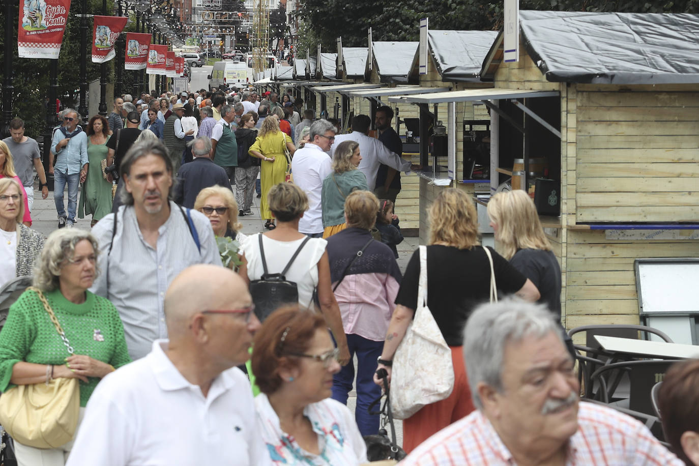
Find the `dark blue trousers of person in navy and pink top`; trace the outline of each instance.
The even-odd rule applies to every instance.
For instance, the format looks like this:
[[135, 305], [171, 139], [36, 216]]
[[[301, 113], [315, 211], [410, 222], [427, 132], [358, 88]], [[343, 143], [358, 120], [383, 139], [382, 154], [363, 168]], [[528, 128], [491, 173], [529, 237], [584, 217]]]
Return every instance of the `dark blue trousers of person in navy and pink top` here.
[[[354, 382], [353, 358], [356, 354], [356, 411], [354, 418], [361, 435], [375, 435], [379, 432], [379, 416], [369, 414], [369, 405], [381, 396], [381, 387], [374, 383], [376, 359], [381, 356], [384, 342], [367, 340], [359, 335], [347, 334], [349, 364], [333, 377], [333, 400], [347, 405], [347, 395]], [[379, 407], [377, 406], [378, 410]]]

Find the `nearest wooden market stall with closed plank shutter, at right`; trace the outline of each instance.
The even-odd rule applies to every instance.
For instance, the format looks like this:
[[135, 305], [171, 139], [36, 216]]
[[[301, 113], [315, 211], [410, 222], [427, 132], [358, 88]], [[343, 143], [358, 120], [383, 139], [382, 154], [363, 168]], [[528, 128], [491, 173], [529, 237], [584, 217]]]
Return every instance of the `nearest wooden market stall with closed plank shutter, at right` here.
[[699, 15], [519, 24], [519, 61], [503, 61], [500, 34], [481, 73], [494, 88], [458, 91], [491, 110], [491, 192], [533, 184], [550, 213], [566, 328], [639, 323], [635, 261], [699, 254]]

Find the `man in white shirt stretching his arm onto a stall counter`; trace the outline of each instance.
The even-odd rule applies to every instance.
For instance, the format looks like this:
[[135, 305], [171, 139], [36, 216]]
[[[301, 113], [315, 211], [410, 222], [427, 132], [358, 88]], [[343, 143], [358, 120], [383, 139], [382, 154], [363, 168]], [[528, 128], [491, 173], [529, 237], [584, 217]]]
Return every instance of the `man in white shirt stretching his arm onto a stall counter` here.
[[[353, 140], [359, 143], [359, 153], [361, 154], [359, 170], [366, 176], [369, 191], [374, 191], [376, 174], [382, 163], [406, 174], [410, 173], [410, 168], [417, 169], [418, 166], [411, 166], [410, 161], [403, 160], [398, 154], [389, 151], [380, 140], [367, 136], [369, 126], [371, 126], [371, 119], [367, 115], [357, 115], [352, 118], [352, 133], [337, 136], [335, 138], [335, 147], [346, 140]], [[334, 154], [332, 149], [330, 154], [331, 156]], [[296, 179], [296, 173], [294, 173], [294, 179]]]

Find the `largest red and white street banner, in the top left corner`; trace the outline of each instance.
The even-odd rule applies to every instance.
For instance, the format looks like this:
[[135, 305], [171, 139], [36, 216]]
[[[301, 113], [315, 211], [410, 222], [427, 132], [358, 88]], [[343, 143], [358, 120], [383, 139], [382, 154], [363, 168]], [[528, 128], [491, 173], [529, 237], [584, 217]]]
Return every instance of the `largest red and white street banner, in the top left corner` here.
[[71, 0], [20, 0], [19, 57], [58, 59], [70, 9]]

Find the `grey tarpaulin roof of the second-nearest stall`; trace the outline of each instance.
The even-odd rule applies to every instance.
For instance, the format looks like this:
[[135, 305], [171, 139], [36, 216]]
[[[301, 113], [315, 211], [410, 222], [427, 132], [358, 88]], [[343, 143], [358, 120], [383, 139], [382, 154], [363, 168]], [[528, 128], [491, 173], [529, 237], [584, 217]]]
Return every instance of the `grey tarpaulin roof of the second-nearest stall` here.
[[445, 81], [480, 81], [498, 31], [428, 31], [432, 57]]

